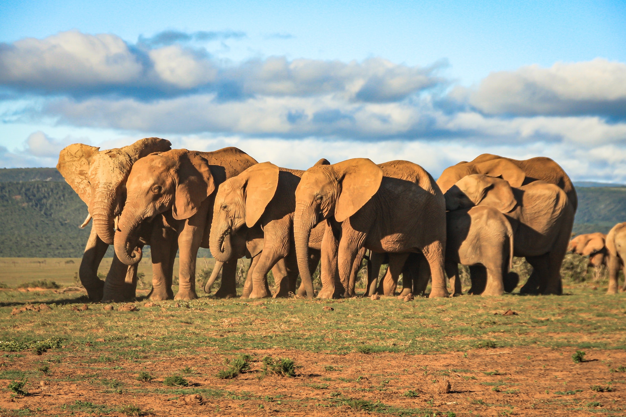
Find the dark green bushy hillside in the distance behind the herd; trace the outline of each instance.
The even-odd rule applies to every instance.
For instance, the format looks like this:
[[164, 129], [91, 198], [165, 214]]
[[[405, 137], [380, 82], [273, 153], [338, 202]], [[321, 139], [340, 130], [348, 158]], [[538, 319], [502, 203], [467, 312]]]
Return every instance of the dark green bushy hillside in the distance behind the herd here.
[[[587, 183], [588, 184], [588, 183]], [[577, 186], [576, 234], [608, 232], [626, 221], [626, 187]], [[55, 168], [0, 169], [0, 257], [81, 257], [91, 226], [87, 207]], [[112, 256], [112, 249], [106, 256]], [[149, 249], [145, 250], [149, 257]], [[210, 257], [208, 249], [199, 256]]]

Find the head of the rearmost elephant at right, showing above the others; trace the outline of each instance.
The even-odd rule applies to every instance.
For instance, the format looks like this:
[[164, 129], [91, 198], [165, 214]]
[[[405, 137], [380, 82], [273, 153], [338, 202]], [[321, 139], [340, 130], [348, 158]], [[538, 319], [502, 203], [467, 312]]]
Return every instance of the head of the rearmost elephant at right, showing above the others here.
[[[483, 156], [483, 155], [481, 155]], [[496, 155], [492, 155], [496, 157]], [[478, 158], [477, 158], [478, 159]], [[471, 162], [459, 162], [452, 167], [443, 170], [437, 178], [437, 185], [442, 192], [448, 191], [458, 180], [467, 175], [483, 174], [489, 177], [500, 177], [508, 181], [511, 187], [521, 187], [526, 174], [517, 165], [505, 158], [496, 157], [488, 160], [473, 160]]]

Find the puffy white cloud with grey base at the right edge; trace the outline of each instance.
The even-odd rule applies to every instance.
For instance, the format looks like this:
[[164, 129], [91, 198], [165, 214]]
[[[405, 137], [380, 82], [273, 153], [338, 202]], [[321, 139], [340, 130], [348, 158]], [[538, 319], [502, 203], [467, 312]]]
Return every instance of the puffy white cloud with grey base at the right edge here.
[[[456, 95], [460, 95], [456, 92]], [[469, 103], [490, 115], [626, 117], [626, 64], [596, 58], [491, 73]]]

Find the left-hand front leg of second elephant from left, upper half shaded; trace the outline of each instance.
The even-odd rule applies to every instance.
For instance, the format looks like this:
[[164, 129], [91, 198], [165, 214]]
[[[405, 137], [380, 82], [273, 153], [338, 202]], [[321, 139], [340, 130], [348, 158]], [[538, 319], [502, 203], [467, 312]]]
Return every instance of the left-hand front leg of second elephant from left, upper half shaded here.
[[[168, 233], [170, 232], [170, 233]], [[150, 254], [152, 260], [152, 291], [148, 294], [151, 300], [171, 300], [172, 291], [172, 246], [176, 239], [171, 230], [155, 225], [150, 237]], [[178, 246], [175, 246], [178, 250]], [[176, 252], [174, 252], [176, 256]]]

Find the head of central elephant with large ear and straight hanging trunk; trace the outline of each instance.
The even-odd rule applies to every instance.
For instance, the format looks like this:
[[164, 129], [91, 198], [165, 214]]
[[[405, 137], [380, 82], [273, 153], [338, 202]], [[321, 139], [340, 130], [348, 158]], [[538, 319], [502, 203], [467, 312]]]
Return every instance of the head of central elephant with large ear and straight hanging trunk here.
[[[318, 165], [319, 164], [319, 165]], [[313, 284], [309, 273], [309, 237], [311, 229], [329, 217], [343, 222], [378, 191], [382, 170], [366, 158], [354, 158], [333, 165], [319, 162], [309, 168], [295, 190], [295, 253], [302, 286], [309, 298]]]

